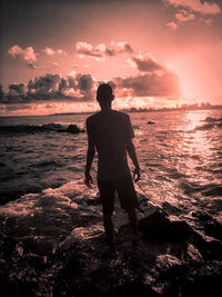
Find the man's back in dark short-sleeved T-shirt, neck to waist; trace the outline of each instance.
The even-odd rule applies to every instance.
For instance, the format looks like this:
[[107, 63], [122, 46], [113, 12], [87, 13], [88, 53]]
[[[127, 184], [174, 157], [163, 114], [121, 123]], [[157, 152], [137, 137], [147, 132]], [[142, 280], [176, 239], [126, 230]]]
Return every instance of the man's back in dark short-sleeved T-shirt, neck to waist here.
[[87, 119], [87, 129], [99, 155], [98, 179], [130, 177], [125, 149], [134, 137], [130, 117], [112, 109], [101, 111]]

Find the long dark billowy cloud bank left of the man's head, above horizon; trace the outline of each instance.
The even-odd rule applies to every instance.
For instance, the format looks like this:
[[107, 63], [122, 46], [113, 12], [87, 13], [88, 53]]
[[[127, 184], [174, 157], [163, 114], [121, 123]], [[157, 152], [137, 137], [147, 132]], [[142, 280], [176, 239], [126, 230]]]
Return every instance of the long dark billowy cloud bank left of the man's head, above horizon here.
[[31, 79], [28, 85], [10, 85], [9, 92], [0, 100], [9, 105], [50, 100], [85, 101], [93, 98], [94, 83], [91, 75], [73, 72], [62, 77], [47, 73]]

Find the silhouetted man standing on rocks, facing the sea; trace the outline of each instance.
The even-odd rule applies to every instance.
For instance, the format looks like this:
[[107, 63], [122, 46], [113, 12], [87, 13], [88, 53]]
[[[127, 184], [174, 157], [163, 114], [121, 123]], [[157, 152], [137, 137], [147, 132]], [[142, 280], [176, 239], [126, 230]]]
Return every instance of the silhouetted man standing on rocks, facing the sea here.
[[85, 166], [85, 185], [93, 184], [90, 175], [91, 164], [98, 151], [98, 187], [102, 201], [105, 241], [114, 248], [114, 232], [112, 214], [114, 209], [114, 192], [117, 190], [121, 207], [128, 212], [133, 238], [138, 238], [138, 220], [135, 207], [138, 205], [131, 172], [128, 166], [127, 151], [135, 168], [133, 178], [140, 179], [140, 167], [132, 142], [134, 132], [127, 113], [111, 108], [114, 96], [112, 88], [102, 83], [97, 90], [97, 100], [101, 111], [87, 119], [88, 152]]

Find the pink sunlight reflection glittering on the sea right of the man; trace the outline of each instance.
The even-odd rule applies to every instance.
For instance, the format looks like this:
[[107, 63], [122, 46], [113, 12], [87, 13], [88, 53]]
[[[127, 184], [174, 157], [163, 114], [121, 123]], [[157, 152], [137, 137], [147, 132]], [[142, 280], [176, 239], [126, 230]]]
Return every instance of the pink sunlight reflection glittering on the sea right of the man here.
[[137, 139], [144, 172], [140, 186], [152, 201], [170, 201], [189, 211], [196, 204], [196, 195], [200, 198], [209, 185], [221, 182], [220, 129], [196, 129], [204, 127], [212, 111], [163, 112], [159, 120], [154, 116], [155, 120], [148, 115], [148, 120], [155, 121], [152, 127], [148, 120], [141, 123], [137, 119], [143, 130], [142, 138]]

